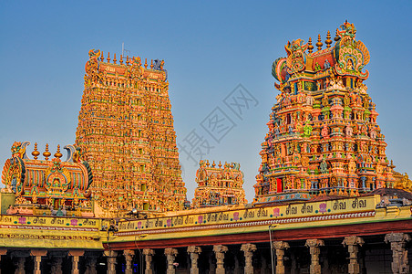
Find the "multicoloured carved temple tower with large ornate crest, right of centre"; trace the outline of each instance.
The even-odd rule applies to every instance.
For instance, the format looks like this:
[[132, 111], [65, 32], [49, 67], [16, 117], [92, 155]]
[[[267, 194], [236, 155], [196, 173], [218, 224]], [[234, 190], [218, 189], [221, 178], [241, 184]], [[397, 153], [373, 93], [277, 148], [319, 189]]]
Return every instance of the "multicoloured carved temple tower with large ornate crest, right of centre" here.
[[297, 39], [273, 62], [277, 80], [269, 132], [262, 143], [255, 202], [360, 195], [393, 187], [393, 165], [364, 80], [369, 52], [345, 22], [325, 48]]

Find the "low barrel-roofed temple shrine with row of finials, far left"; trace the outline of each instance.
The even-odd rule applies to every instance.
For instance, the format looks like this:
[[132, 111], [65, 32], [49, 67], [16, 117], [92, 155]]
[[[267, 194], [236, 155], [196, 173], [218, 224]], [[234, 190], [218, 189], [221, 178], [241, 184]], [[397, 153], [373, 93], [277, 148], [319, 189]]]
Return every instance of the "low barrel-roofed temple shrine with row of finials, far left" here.
[[[2, 214], [94, 216], [91, 205], [90, 185], [93, 175], [88, 162], [82, 160], [81, 150], [67, 145], [67, 160], [61, 161], [60, 146], [49, 160], [51, 153], [43, 153], [39, 160], [37, 143], [29, 159], [26, 147], [30, 142], [14, 142], [12, 157], [5, 161], [2, 172]], [[7, 201], [8, 205], [5, 205]]]

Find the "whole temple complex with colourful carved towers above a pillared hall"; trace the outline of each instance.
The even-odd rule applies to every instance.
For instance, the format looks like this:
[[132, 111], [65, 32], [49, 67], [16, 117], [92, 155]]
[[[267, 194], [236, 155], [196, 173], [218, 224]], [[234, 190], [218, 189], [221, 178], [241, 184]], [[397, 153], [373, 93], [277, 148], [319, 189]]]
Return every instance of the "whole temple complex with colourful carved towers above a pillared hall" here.
[[273, 63], [253, 203], [239, 163], [201, 161], [184, 209], [163, 62], [91, 50], [67, 160], [15, 142], [5, 162], [0, 272], [411, 273], [412, 182], [386, 159], [368, 51], [347, 22], [332, 43]]

